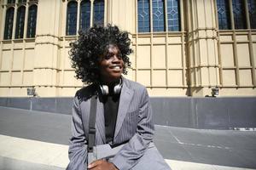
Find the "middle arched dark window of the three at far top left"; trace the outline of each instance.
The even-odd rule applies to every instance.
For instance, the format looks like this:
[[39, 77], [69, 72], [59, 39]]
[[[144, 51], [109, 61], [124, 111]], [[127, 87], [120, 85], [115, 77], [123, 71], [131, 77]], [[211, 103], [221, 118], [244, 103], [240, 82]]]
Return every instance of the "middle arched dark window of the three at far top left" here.
[[26, 7], [20, 6], [17, 11], [15, 38], [23, 38]]

